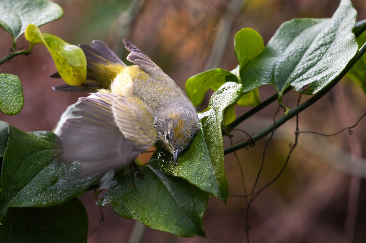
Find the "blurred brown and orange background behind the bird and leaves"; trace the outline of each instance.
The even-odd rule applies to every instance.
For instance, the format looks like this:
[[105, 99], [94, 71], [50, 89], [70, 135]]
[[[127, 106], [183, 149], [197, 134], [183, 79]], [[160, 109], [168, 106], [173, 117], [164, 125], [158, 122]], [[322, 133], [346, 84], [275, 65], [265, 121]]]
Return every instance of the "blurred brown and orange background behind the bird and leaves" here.
[[[130, 39], [184, 89], [186, 80], [207, 69], [234, 69], [234, 35], [244, 27], [254, 28], [267, 43], [281, 23], [293, 18], [329, 18], [339, 0], [55, 0], [64, 16], [40, 29], [74, 45], [107, 42], [122, 59], [122, 38]], [[352, 0], [358, 20], [366, 19], [365, 0]], [[0, 57], [7, 54], [11, 38], [0, 30]], [[18, 47], [26, 46], [24, 36]], [[128, 63], [128, 62], [126, 62]], [[25, 131], [52, 130], [68, 105], [86, 93], [55, 92], [62, 80], [49, 78], [56, 67], [46, 47], [18, 56], [0, 66], [1, 73], [16, 74], [23, 84], [25, 104], [15, 116], [0, 113], [0, 120]], [[259, 88], [261, 100], [275, 88]], [[208, 101], [210, 93], [206, 97]], [[298, 94], [289, 92], [283, 101], [295, 107]], [[302, 101], [308, 99], [303, 96]], [[352, 126], [366, 111], [361, 88], [344, 78], [321, 100], [299, 115], [300, 131], [335, 133]], [[198, 107], [202, 110], [206, 105]], [[274, 102], [237, 128], [254, 135], [273, 122]], [[249, 110], [237, 109], [238, 114]], [[280, 116], [279, 114], [277, 116]], [[366, 242], [366, 119], [349, 135], [331, 137], [300, 134], [298, 146], [278, 180], [251, 203], [250, 242]], [[255, 192], [272, 181], [285, 163], [294, 142], [295, 119], [280, 127], [268, 145], [264, 167]], [[233, 143], [246, 135], [233, 132]], [[253, 188], [269, 136], [255, 147], [237, 151], [247, 193]], [[224, 147], [230, 140], [224, 138]], [[146, 228], [141, 242], [246, 242], [246, 205], [239, 163], [225, 156], [230, 194], [227, 204], [210, 197], [203, 229], [207, 238], [178, 236]], [[81, 197], [89, 216], [89, 232], [100, 220], [93, 192]], [[127, 242], [134, 220], [123, 219], [111, 205], [103, 209], [104, 222], [88, 242]]]

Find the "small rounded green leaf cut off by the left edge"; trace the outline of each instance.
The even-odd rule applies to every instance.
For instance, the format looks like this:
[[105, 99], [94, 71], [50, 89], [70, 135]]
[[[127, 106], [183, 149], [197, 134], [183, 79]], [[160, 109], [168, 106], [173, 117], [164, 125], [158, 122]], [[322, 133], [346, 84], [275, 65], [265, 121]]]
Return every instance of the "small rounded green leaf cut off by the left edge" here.
[[0, 110], [7, 115], [16, 115], [23, 104], [23, 87], [18, 76], [0, 73]]

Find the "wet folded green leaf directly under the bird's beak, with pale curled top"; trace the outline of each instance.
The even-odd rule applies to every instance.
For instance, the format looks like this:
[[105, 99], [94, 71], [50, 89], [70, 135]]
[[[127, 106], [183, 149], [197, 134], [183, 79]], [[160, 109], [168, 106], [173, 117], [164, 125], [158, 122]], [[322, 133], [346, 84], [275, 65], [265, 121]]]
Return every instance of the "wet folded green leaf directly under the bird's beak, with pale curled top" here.
[[208, 110], [200, 114], [203, 117], [201, 130], [188, 149], [178, 157], [177, 166], [170, 153], [159, 151], [160, 169], [166, 174], [182, 177], [226, 202], [229, 188], [224, 170], [221, 124], [225, 109], [234, 104], [241, 93], [242, 85], [236, 82], [226, 82], [214, 92]]

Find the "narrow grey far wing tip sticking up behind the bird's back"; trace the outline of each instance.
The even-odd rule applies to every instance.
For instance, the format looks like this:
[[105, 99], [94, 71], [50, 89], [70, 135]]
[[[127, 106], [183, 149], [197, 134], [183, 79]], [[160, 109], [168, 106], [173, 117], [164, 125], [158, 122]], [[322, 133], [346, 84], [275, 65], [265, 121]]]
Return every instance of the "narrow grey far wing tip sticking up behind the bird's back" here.
[[[130, 40], [123, 39], [124, 47], [131, 53], [128, 54], [127, 60], [135, 63], [147, 73], [154, 74], [156, 72], [163, 72], [145, 53], [143, 53]], [[163, 72], [164, 73], [164, 72]]]

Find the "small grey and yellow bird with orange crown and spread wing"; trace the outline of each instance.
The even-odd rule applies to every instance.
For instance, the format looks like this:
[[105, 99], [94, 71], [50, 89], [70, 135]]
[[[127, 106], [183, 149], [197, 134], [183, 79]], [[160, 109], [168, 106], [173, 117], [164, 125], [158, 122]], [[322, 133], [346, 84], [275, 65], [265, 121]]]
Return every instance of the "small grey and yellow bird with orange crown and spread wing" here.
[[79, 98], [60, 138], [63, 156], [85, 163], [87, 173], [125, 166], [153, 145], [170, 152], [177, 165], [200, 129], [197, 112], [178, 85], [129, 40], [123, 43], [133, 66], [104, 42], [80, 45], [88, 77], [103, 88]]

